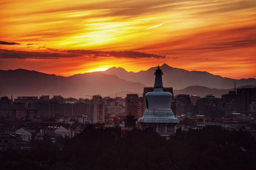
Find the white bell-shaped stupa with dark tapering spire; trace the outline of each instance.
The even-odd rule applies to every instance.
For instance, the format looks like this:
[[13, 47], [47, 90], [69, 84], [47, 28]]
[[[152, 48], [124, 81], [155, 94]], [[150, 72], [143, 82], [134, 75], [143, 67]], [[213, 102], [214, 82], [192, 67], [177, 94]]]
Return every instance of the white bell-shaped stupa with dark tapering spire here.
[[148, 92], [145, 95], [148, 109], [138, 120], [139, 128], [145, 130], [152, 127], [161, 136], [170, 136], [176, 132], [179, 120], [175, 118], [171, 110], [172, 94], [163, 91], [163, 72], [159, 65], [154, 75], [156, 76], [154, 92]]

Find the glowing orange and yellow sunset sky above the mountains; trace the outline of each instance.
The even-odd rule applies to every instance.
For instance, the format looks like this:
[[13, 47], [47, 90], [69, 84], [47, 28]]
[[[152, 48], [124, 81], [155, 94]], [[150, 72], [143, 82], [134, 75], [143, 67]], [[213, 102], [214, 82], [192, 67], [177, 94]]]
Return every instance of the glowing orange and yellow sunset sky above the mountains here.
[[166, 63], [256, 78], [255, 0], [0, 0], [0, 69], [48, 74]]

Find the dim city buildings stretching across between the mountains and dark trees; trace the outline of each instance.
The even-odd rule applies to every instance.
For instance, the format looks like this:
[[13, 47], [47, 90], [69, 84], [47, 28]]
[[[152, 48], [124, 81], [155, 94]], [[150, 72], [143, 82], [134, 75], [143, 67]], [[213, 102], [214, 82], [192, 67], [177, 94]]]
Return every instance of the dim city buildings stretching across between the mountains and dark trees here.
[[[143, 96], [127, 94], [125, 99], [102, 97], [64, 98], [61, 95], [18, 96], [12, 99], [2, 96], [0, 100], [1, 134], [0, 149], [26, 148], [33, 139], [52, 142], [72, 138], [87, 125], [116, 127], [126, 131], [137, 127], [138, 119], [147, 109], [145, 94], [154, 91], [145, 87]], [[204, 97], [188, 94], [173, 95], [172, 88], [163, 88], [173, 96], [171, 109], [186, 133], [189, 128], [198, 129], [207, 125], [220, 125], [229, 130], [248, 130], [256, 133], [256, 88], [239, 88], [216, 98], [212, 94]], [[129, 122], [129, 123], [128, 123]]]

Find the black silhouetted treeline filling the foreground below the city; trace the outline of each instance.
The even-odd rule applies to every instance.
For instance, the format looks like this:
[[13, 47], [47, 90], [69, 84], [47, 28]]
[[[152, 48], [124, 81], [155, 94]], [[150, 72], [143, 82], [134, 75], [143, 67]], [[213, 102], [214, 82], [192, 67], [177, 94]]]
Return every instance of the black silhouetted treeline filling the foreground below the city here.
[[120, 130], [88, 126], [59, 149], [49, 139], [31, 150], [0, 151], [1, 170], [250, 170], [256, 141], [247, 131], [219, 126], [189, 130], [166, 141], [151, 129], [120, 138]]

